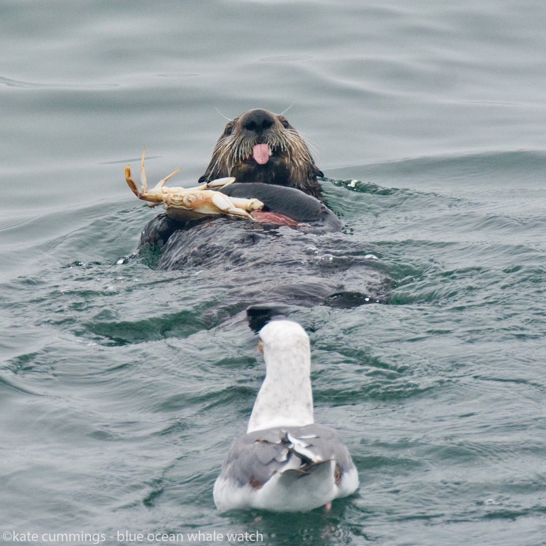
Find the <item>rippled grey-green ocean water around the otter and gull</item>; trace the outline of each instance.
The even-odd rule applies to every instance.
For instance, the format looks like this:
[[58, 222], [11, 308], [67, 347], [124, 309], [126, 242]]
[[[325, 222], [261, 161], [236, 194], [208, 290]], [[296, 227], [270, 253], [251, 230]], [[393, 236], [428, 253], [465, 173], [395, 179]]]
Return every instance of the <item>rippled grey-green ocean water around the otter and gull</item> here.
[[[545, 27], [538, 0], [3, 0], [0, 543], [546, 544]], [[290, 106], [344, 227], [281, 228], [271, 278], [390, 303], [292, 306], [360, 488], [219, 514], [264, 373], [251, 264], [117, 265], [156, 213], [123, 168], [146, 146], [191, 185], [219, 112]]]

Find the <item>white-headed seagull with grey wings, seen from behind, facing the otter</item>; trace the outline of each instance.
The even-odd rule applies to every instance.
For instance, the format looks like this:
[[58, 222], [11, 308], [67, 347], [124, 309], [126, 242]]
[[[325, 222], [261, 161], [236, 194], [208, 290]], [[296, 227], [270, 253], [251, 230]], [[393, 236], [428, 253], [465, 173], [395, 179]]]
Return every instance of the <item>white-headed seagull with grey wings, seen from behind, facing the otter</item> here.
[[309, 337], [292, 321], [259, 332], [265, 379], [248, 421], [214, 484], [219, 511], [331, 508], [357, 490], [358, 472], [336, 431], [314, 423]]

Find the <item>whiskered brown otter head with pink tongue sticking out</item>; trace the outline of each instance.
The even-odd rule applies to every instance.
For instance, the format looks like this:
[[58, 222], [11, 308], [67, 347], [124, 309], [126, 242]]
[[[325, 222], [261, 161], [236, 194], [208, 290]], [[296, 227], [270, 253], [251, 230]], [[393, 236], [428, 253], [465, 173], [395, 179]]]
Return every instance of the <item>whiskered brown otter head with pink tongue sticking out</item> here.
[[317, 176], [324, 175], [304, 139], [286, 117], [268, 110], [248, 110], [225, 126], [199, 182], [225, 176], [289, 186], [322, 200]]

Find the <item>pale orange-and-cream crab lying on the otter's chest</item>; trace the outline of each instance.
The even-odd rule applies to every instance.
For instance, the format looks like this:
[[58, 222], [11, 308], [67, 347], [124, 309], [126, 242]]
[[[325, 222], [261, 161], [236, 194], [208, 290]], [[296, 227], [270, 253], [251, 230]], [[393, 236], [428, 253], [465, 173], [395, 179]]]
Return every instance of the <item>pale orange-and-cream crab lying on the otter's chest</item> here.
[[164, 184], [180, 169], [176, 169], [170, 175], [160, 180], [155, 187], [148, 189], [146, 169], [144, 168], [144, 156], [142, 152], [140, 162], [140, 189], [131, 177], [129, 165], [125, 168], [125, 180], [132, 192], [148, 206], [163, 204], [167, 215], [175, 220], [194, 220], [207, 215], [225, 215], [255, 220], [251, 212], [262, 210], [264, 204], [258, 199], [242, 199], [228, 197], [219, 191], [209, 188], [224, 188], [235, 182], [233, 177], [221, 178], [207, 182], [194, 188], [165, 187]]

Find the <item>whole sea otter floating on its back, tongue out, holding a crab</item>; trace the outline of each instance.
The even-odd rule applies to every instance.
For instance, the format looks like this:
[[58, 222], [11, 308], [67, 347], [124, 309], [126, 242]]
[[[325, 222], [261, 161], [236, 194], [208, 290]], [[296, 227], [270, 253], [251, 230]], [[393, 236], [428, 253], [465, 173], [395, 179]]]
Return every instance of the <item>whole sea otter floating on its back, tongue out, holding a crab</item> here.
[[[254, 109], [230, 121], [199, 182], [227, 176], [236, 181], [219, 191], [259, 199], [268, 219], [207, 216], [184, 222], [163, 213], [146, 224], [139, 245], [151, 266], [209, 280], [211, 291], [225, 296], [211, 316], [248, 308], [251, 326], [259, 329], [271, 316], [289, 314], [290, 306], [349, 308], [382, 302], [370, 295], [382, 280], [367, 261], [348, 281], [358, 291], [347, 291], [347, 260], [338, 262], [332, 251], [319, 250], [323, 245], [340, 248], [346, 235], [323, 202], [317, 181], [321, 170], [286, 117]], [[317, 256], [321, 252], [325, 255]]]

